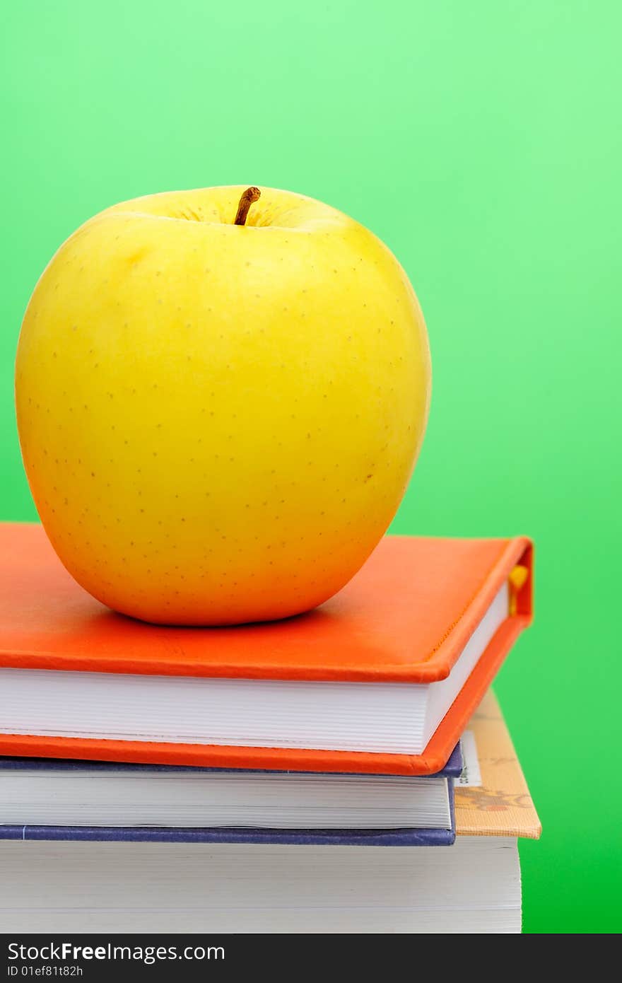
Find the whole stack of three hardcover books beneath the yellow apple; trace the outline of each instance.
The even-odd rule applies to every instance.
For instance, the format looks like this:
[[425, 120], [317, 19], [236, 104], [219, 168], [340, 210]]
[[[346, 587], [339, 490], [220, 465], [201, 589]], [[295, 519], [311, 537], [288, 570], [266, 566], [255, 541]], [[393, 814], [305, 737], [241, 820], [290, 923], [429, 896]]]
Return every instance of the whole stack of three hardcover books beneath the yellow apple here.
[[387, 537], [308, 614], [163, 628], [1, 527], [0, 927], [519, 932], [486, 691], [531, 611], [529, 541]]

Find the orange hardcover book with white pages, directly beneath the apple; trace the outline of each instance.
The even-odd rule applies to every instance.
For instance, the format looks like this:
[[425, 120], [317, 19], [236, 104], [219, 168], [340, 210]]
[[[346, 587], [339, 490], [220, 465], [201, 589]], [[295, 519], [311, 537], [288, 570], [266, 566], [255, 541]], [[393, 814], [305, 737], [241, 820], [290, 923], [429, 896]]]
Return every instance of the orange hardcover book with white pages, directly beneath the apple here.
[[529, 540], [385, 537], [321, 607], [231, 628], [109, 610], [0, 526], [0, 754], [425, 775], [532, 618]]

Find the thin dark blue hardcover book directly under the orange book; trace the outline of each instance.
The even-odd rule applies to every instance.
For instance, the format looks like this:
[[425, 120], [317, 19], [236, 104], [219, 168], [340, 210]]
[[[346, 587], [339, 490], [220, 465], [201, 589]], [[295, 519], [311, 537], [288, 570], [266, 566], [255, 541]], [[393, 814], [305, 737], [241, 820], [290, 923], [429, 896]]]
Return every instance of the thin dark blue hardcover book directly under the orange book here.
[[0, 839], [451, 845], [457, 746], [425, 777], [0, 758]]

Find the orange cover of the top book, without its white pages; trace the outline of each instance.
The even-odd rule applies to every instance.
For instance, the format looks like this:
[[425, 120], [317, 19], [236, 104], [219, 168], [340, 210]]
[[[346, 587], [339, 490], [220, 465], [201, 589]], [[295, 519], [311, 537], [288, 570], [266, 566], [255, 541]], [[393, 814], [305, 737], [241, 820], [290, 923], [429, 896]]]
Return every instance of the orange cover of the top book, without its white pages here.
[[[518, 568], [518, 570], [517, 570]], [[424, 775], [439, 771], [531, 621], [524, 537], [387, 536], [353, 580], [307, 614], [231, 628], [134, 621], [63, 568], [40, 526], [0, 526], [0, 666], [170, 676], [431, 683], [446, 678], [499, 588], [510, 611], [421, 755], [234, 747], [0, 732], [0, 754], [223, 768]], [[0, 722], [0, 730], [2, 722]]]

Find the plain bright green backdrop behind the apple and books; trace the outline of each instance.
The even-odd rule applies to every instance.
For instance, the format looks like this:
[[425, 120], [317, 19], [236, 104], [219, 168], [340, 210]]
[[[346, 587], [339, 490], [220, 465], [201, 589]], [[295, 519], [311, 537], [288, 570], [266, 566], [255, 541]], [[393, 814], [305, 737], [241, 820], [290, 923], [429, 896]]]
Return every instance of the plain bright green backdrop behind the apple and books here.
[[0, 517], [35, 517], [14, 352], [76, 226], [245, 182], [358, 218], [432, 349], [394, 531], [537, 543], [536, 624], [496, 686], [543, 824], [525, 928], [619, 930], [622, 6], [21, 0], [3, 19]]

